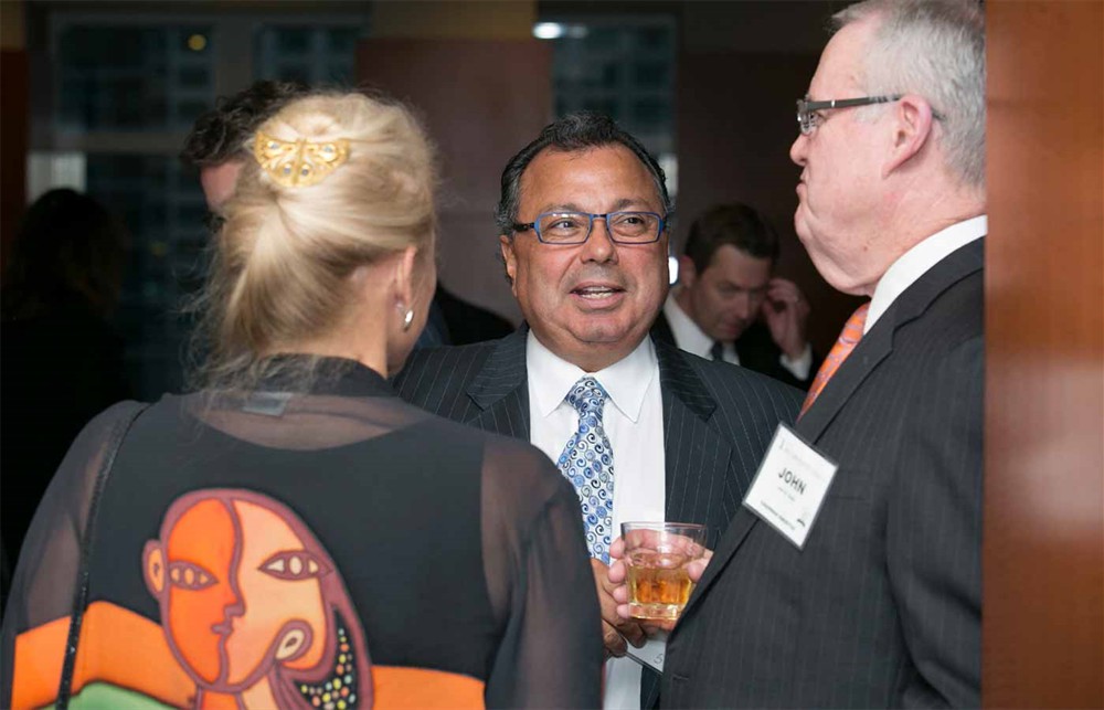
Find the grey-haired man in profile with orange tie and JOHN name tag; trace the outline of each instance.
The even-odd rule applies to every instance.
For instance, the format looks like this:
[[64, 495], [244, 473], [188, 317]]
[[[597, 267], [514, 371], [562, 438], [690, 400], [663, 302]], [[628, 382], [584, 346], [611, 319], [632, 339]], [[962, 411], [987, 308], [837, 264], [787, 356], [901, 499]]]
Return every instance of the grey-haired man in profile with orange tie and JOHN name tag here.
[[796, 427], [839, 468], [804, 549], [736, 515], [668, 644], [673, 707], [980, 703], [983, 15], [836, 21], [790, 157], [814, 264], [871, 297]]

